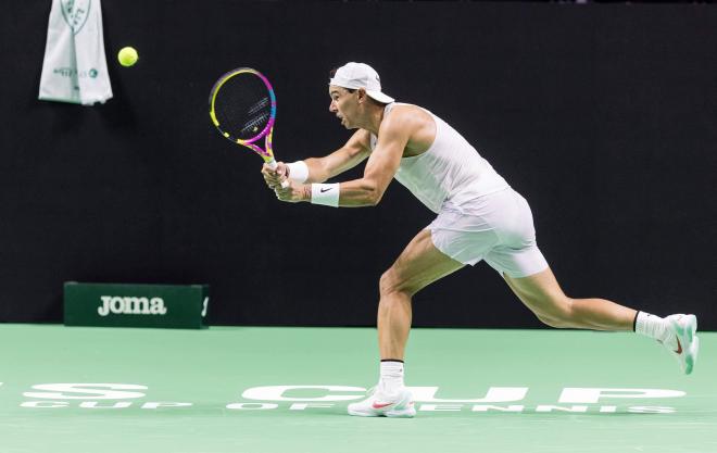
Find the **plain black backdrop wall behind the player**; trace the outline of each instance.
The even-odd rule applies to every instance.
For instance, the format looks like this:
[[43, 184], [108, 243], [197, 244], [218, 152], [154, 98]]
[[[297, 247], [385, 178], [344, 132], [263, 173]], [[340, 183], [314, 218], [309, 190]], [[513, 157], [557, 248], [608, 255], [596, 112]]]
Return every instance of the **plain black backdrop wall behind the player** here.
[[[257, 67], [277, 93], [277, 156], [323, 155], [349, 136], [328, 71], [364, 61], [529, 200], [566, 292], [717, 328], [717, 8], [102, 8], [114, 99], [93, 108], [37, 100], [49, 0], [0, 18], [0, 320], [61, 320], [62, 282], [79, 280], [206, 282], [213, 324], [373, 325], [381, 272], [432, 214], [398, 183], [375, 209], [280, 203], [206, 114], [222, 73]], [[128, 45], [140, 61], [123, 68]], [[539, 325], [485, 264], [414, 305], [417, 326]]]

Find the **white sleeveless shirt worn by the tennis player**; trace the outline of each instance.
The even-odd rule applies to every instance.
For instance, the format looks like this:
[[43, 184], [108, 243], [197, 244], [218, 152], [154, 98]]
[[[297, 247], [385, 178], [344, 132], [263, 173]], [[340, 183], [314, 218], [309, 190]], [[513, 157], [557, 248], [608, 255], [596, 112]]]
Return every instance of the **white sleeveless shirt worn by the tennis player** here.
[[[395, 102], [386, 105], [385, 118], [394, 105]], [[511, 187], [461, 134], [425, 111], [436, 122], [433, 143], [423, 154], [401, 159], [394, 176], [411, 193], [438, 213], [443, 204], [460, 207], [479, 197]], [[372, 151], [377, 141], [372, 134]]]

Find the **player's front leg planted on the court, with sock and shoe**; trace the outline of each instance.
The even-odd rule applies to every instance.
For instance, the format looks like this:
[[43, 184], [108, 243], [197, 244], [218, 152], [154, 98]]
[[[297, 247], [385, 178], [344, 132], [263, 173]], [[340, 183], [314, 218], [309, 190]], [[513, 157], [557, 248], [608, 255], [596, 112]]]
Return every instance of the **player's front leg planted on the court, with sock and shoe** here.
[[411, 392], [403, 383], [403, 355], [411, 330], [411, 299], [420, 289], [464, 264], [439, 251], [431, 231], [424, 229], [406, 246], [379, 282], [378, 343], [381, 356], [379, 383], [364, 401], [349, 404], [349, 414], [365, 417], [413, 417]]

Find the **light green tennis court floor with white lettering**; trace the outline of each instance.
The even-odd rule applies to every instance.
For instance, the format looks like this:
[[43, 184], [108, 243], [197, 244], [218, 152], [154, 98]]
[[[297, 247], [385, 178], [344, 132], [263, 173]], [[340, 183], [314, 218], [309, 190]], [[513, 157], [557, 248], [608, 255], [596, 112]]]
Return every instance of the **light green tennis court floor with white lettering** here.
[[389, 419], [345, 414], [377, 380], [375, 329], [1, 325], [0, 451], [715, 452], [701, 340], [685, 377], [633, 334], [418, 328], [418, 415]]

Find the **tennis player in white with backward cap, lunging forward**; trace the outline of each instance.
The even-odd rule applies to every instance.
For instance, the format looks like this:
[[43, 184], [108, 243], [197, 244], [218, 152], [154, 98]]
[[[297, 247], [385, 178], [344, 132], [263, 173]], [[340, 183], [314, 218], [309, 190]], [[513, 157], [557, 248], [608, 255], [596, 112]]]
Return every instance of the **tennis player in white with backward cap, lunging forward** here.
[[[538, 249], [526, 199], [449, 124], [417, 105], [394, 102], [367, 64], [352, 62], [332, 72], [328, 93], [329, 111], [355, 133], [325, 158], [279, 163], [276, 171], [265, 165], [264, 179], [277, 198], [335, 207], [375, 206], [395, 178], [437, 214], [380, 277], [380, 378], [366, 400], [349, 405], [349, 414], [415, 415], [403, 380], [411, 299], [427, 285], [480, 261], [544, 324], [633, 330], [663, 343], [682, 372], [692, 373], [699, 351], [695, 316], [662, 318], [604, 299], [566, 295]], [[325, 183], [366, 159], [362, 178]], [[281, 188], [286, 178], [290, 185]]]

